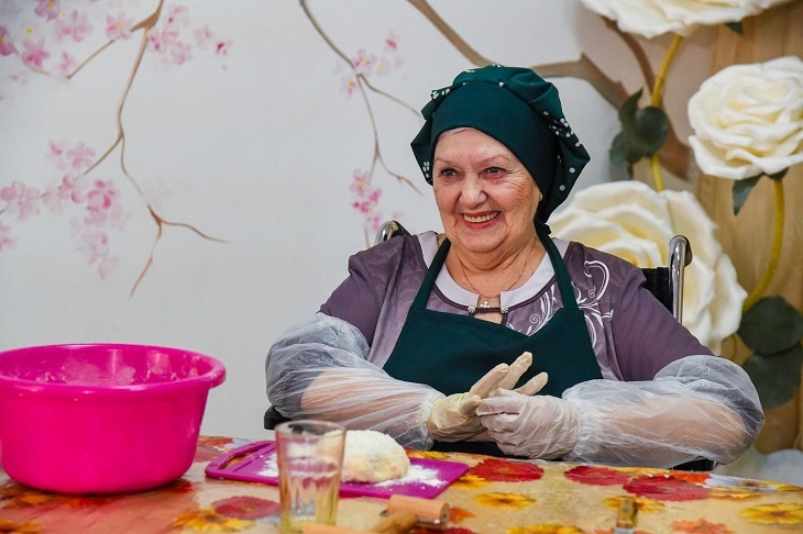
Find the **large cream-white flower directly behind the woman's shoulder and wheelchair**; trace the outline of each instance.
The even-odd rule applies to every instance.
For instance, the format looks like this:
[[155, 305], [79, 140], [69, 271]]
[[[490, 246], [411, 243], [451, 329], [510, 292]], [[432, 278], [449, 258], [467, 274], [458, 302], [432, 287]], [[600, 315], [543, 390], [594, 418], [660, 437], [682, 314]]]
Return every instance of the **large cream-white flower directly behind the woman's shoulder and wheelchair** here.
[[552, 235], [614, 254], [639, 267], [669, 265], [669, 242], [689, 237], [694, 259], [685, 269], [683, 325], [717, 353], [736, 332], [747, 292], [714, 237], [716, 224], [688, 191], [657, 192], [639, 181], [579, 190], [549, 219]]

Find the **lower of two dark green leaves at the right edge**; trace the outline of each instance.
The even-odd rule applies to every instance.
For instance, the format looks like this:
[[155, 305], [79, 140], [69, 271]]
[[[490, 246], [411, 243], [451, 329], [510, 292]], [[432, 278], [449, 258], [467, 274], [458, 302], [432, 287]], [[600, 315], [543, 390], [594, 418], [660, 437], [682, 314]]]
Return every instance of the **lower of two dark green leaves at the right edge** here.
[[754, 354], [743, 366], [750, 376], [765, 410], [785, 404], [800, 388], [803, 347], [800, 343], [771, 357]]

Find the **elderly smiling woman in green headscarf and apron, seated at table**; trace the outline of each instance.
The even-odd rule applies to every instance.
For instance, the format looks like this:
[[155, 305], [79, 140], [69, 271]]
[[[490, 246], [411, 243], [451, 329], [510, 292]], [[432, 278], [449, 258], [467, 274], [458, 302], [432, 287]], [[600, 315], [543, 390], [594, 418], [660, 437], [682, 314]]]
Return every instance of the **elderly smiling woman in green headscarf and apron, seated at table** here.
[[639, 268], [549, 237], [588, 160], [557, 89], [494, 65], [422, 113], [413, 152], [443, 234], [350, 259], [271, 348], [274, 408], [422, 449], [657, 467], [743, 454], [763, 422], [744, 370], [680, 325]]

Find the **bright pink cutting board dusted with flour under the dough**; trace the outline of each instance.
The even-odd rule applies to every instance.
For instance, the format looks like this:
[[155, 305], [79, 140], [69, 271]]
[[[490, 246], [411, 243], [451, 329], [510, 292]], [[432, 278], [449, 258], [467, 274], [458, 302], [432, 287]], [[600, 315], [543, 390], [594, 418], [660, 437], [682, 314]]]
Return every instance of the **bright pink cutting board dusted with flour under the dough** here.
[[[436, 459], [410, 458], [407, 476], [386, 482], [342, 482], [341, 496], [367, 496], [388, 499], [403, 494], [432, 499], [469, 470], [465, 464]], [[256, 442], [230, 450], [209, 463], [206, 475], [246, 482], [278, 485], [276, 443]]]

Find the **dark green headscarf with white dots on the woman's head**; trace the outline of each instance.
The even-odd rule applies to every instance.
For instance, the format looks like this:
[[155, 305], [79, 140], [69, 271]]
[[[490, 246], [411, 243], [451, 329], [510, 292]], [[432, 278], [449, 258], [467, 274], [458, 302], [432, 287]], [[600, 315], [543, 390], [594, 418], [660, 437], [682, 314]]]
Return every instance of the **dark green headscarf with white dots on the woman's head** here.
[[532, 175], [543, 194], [536, 221], [546, 223], [590, 159], [563, 116], [558, 89], [528, 68], [490, 65], [461, 73], [430, 96], [421, 110], [426, 122], [411, 143], [427, 181], [432, 183], [440, 134], [455, 127], [480, 130], [505, 145]]

